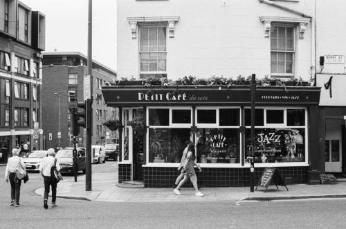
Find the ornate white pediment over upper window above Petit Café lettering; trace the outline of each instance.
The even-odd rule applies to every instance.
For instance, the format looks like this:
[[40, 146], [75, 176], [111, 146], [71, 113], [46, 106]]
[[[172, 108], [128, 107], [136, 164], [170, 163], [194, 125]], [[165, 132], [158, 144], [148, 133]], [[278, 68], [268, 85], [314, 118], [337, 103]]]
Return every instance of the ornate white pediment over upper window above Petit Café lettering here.
[[179, 17], [127, 17], [127, 21], [130, 23], [132, 39], [137, 39], [137, 24], [146, 22], [167, 22], [170, 37], [174, 37], [174, 24], [179, 21]]

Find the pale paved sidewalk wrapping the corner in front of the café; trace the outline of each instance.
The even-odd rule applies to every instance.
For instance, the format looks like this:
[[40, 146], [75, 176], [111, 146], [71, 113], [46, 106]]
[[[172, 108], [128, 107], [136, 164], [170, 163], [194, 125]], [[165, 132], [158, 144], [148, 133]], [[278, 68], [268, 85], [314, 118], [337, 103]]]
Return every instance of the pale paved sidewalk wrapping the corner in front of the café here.
[[[279, 189], [269, 186], [258, 188], [250, 192], [249, 187], [230, 188], [201, 188], [205, 197], [195, 197], [192, 188], [182, 188], [181, 195], [175, 195], [172, 188], [120, 188], [116, 186], [116, 174], [93, 173], [92, 191], [85, 191], [85, 175], [78, 177], [64, 177], [65, 180], [57, 185], [57, 197], [68, 199], [82, 199], [89, 201], [107, 202], [171, 202], [171, 201], [244, 201], [244, 200], [275, 200], [275, 199], [307, 199], [307, 198], [341, 198], [346, 197], [346, 180], [339, 179], [336, 184], [289, 185]], [[44, 194], [44, 188], [35, 190], [37, 195]]]

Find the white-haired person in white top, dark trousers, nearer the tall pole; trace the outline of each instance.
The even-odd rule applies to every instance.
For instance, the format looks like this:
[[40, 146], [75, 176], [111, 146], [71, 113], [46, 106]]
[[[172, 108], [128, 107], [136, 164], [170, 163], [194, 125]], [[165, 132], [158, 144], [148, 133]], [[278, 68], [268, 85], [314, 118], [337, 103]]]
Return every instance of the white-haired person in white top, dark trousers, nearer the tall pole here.
[[44, 177], [44, 208], [48, 208], [48, 194], [49, 189], [52, 186], [52, 208], [55, 208], [57, 205], [55, 201], [57, 199], [57, 180], [53, 174], [52, 168], [60, 170], [59, 161], [55, 158], [55, 152], [53, 148], [49, 148], [48, 157], [45, 157], [39, 165], [39, 173]]

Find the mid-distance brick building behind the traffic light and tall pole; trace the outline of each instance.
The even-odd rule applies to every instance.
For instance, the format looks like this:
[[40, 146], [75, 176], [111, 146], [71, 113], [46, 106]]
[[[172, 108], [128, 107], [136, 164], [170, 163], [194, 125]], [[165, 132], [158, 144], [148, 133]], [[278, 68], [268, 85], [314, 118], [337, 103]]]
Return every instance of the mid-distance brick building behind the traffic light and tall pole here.
[[[87, 75], [87, 57], [80, 52], [44, 52], [43, 65], [43, 129], [45, 148], [72, 146], [71, 109], [83, 101], [84, 76]], [[93, 61], [93, 135], [92, 144], [115, 142], [116, 131], [110, 131], [102, 122], [116, 116], [116, 109], [107, 108], [102, 97], [101, 86], [116, 78], [116, 71]], [[60, 106], [59, 106], [60, 100]], [[59, 115], [60, 114], [60, 115]], [[60, 121], [59, 121], [60, 116]], [[59, 131], [60, 130], [60, 131]], [[57, 133], [61, 132], [59, 139]], [[80, 129], [78, 141], [84, 146], [85, 132]], [[50, 137], [51, 136], [51, 137]]]

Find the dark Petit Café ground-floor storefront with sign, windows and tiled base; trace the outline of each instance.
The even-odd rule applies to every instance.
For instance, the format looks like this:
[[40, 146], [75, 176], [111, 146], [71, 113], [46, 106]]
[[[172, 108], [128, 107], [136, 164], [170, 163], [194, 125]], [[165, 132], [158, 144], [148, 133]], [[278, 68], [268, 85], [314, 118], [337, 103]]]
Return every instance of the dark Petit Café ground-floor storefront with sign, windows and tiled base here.
[[[107, 106], [120, 109], [119, 183], [143, 180], [146, 188], [171, 187], [186, 142], [195, 144], [200, 186], [249, 186], [251, 92], [249, 86], [146, 88], [104, 86]], [[257, 87], [255, 177], [279, 168], [291, 183], [309, 182], [318, 167], [316, 133], [320, 88]], [[143, 120], [144, 128], [136, 128]], [[138, 125], [137, 125], [138, 126]], [[318, 161], [318, 160], [317, 160]]]

